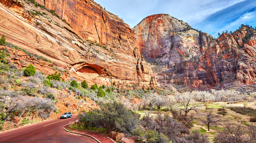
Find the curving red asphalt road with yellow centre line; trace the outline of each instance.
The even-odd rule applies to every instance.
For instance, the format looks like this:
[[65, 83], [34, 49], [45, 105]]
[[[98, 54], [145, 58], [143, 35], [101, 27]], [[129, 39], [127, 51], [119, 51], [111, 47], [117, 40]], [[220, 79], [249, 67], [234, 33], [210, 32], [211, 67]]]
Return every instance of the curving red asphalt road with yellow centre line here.
[[62, 127], [74, 122], [76, 116], [73, 115], [68, 119], [53, 119], [0, 133], [0, 143], [96, 143], [90, 137], [64, 131]]

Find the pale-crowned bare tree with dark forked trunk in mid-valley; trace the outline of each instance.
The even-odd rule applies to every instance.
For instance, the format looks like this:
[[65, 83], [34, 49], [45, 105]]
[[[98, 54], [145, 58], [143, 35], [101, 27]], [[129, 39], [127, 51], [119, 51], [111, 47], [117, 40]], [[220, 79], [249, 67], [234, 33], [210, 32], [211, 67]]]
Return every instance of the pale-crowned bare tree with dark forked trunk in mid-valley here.
[[180, 103], [180, 108], [178, 109], [178, 112], [184, 111], [185, 116], [191, 110], [194, 110], [197, 112], [197, 110], [198, 110], [197, 107], [191, 104], [194, 102], [194, 100], [192, 99], [192, 96], [191, 96], [191, 92], [182, 93], [181, 95], [179, 95], [176, 98], [176, 100], [178, 103]]

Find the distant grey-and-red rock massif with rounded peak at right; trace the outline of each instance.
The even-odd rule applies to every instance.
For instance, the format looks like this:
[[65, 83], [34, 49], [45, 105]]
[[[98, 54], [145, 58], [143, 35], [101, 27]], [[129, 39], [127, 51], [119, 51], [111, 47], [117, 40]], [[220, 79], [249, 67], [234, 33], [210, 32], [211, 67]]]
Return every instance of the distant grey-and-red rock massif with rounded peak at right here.
[[246, 25], [216, 40], [168, 14], [157, 14], [133, 29], [141, 54], [155, 65], [153, 71], [163, 85], [255, 83], [256, 34]]

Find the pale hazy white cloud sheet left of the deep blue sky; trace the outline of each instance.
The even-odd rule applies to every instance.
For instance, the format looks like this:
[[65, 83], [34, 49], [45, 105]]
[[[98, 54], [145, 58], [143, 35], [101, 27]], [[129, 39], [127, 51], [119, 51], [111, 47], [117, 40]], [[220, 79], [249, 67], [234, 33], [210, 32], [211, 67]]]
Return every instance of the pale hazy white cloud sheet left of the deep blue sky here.
[[158, 13], [170, 14], [193, 24], [242, 1], [245, 0], [95, 0], [106, 10], [123, 18], [130, 26]]

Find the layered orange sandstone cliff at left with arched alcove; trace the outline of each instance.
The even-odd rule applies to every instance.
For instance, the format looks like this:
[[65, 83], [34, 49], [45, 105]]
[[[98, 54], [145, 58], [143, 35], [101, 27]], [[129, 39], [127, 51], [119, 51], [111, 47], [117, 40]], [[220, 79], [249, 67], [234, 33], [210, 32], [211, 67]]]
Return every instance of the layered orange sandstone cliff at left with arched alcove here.
[[0, 23], [7, 42], [50, 59], [70, 71], [67, 78], [89, 85], [156, 85], [134, 31], [92, 0], [0, 0]]

